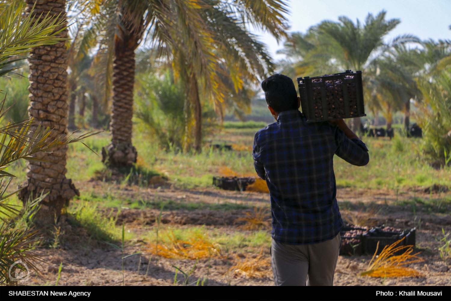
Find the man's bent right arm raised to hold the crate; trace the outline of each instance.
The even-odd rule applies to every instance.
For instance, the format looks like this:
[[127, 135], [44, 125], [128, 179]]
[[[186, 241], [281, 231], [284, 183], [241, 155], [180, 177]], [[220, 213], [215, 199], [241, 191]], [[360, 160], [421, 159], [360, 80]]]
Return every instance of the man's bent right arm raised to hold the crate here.
[[352, 165], [367, 165], [369, 161], [368, 148], [363, 141], [348, 128], [343, 119], [333, 120], [331, 123], [337, 126], [335, 132], [336, 155]]

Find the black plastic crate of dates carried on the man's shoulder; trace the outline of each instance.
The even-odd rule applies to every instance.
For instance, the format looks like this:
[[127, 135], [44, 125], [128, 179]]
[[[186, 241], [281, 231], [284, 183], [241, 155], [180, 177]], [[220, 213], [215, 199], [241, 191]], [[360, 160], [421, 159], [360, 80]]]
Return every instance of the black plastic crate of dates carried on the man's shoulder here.
[[366, 116], [362, 71], [305, 76], [297, 82], [307, 122]]

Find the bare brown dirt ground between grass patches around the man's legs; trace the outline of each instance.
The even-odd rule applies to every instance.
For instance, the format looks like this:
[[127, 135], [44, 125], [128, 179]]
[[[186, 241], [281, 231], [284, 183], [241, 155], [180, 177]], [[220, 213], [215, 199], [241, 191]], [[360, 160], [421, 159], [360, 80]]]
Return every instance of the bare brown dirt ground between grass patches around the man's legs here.
[[[217, 189], [181, 190], [175, 188], [144, 189], [138, 186], [123, 187], [106, 184], [101, 181], [77, 183], [83, 187], [82, 193], [109, 190], [110, 194], [120, 195], [123, 198], [154, 200], [177, 200], [179, 202], [201, 202], [203, 204], [246, 204], [248, 206], [269, 206], [269, 196], [253, 192], [235, 192]], [[440, 194], [444, 197], [446, 194]], [[449, 194], [448, 194], [449, 195]], [[446, 213], [437, 213], [434, 210], [421, 210], [415, 212], [403, 200], [414, 197], [429, 199], [431, 194], [420, 191], [407, 191], [398, 194], [392, 190], [364, 190], [340, 188], [337, 199], [342, 206], [379, 205], [380, 209], [371, 219], [377, 224], [399, 228], [417, 227], [416, 250], [424, 259], [421, 263], [410, 265], [419, 270], [424, 277], [403, 278], [370, 278], [359, 274], [366, 269], [371, 256], [339, 256], [336, 266], [334, 285], [451, 285], [451, 264], [442, 261], [437, 248], [441, 246], [436, 238], [442, 237], [442, 228], [445, 232], [451, 231], [451, 218]], [[439, 194], [432, 194], [438, 198]], [[104, 209], [105, 212], [107, 211]], [[350, 210], [353, 210], [351, 208]], [[215, 228], [223, 233], [237, 231], [235, 219], [244, 216], [246, 210], [171, 210], [163, 211], [161, 222], [175, 227], [190, 227], [193, 225], [206, 225], [206, 229]], [[249, 211], [249, 210], [248, 210]], [[139, 234], [152, 230], [159, 210], [154, 208], [131, 209], [124, 206], [117, 217], [116, 224], [125, 223], [127, 229]], [[64, 223], [64, 222], [63, 222]], [[173, 285], [175, 266], [183, 271], [193, 273], [188, 284], [195, 285], [196, 281], [206, 279], [204, 285], [273, 285], [271, 267], [261, 278], [246, 278], [244, 276], [227, 273], [235, 256], [244, 257], [240, 250], [233, 250], [223, 259], [200, 259], [196, 263], [190, 259], [167, 259], [146, 253], [146, 241], [141, 238], [126, 243], [124, 255], [142, 253], [124, 259], [124, 273], [122, 273], [121, 251], [113, 246], [98, 242], [88, 242], [86, 230], [79, 227], [64, 226], [65, 238], [57, 250], [44, 250], [44, 263], [42, 278], [32, 276], [25, 284], [54, 285], [58, 267], [62, 263], [62, 270], [58, 285]], [[243, 231], [251, 233], [250, 231]], [[269, 229], [268, 229], [269, 233]], [[254, 256], [260, 250], [255, 249]], [[269, 258], [269, 245], [263, 250], [263, 255]], [[150, 259], [150, 261], [149, 261]], [[139, 269], [139, 271], [138, 271]], [[146, 275], [147, 274], [147, 275]], [[184, 276], [178, 273], [179, 284]]]

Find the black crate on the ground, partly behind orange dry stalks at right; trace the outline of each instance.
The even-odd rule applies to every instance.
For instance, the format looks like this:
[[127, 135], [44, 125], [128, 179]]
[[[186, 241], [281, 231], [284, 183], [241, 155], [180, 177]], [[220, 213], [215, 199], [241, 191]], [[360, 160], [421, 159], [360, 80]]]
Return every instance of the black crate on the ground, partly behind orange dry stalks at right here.
[[[415, 247], [415, 228], [402, 230], [394, 227], [373, 227], [367, 233], [364, 234], [364, 253], [374, 254], [377, 248], [377, 242], [379, 247], [377, 248], [377, 255], [382, 252], [386, 245], [399, 241], [405, 237], [405, 239], [397, 246], [413, 245]], [[405, 250], [400, 250], [395, 255], [400, 255]]]

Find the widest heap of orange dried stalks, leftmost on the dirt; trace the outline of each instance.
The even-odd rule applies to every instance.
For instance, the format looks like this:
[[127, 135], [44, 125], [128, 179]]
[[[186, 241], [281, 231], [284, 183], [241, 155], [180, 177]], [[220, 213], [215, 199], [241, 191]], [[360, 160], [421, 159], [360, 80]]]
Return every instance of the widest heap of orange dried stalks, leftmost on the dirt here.
[[219, 245], [208, 241], [201, 234], [190, 237], [188, 241], [184, 241], [176, 239], [174, 233], [170, 232], [168, 239], [169, 243], [160, 242], [158, 245], [149, 245], [146, 250], [154, 255], [176, 259], [223, 257]]

